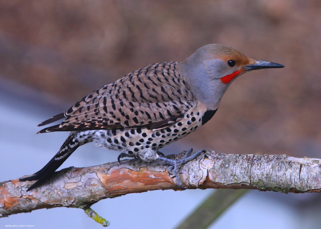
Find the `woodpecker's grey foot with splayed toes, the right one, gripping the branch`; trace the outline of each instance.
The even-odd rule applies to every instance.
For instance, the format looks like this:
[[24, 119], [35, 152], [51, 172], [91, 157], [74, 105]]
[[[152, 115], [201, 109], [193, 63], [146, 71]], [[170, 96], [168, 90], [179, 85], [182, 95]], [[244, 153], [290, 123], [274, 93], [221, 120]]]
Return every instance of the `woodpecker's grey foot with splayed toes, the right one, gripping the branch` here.
[[162, 160], [162, 161], [164, 161], [164, 162], [166, 162], [167, 164], [170, 165], [169, 166], [169, 170], [171, 170], [173, 172], [173, 174], [175, 175], [177, 186], [179, 188], [182, 188], [182, 189], [186, 189], [186, 188], [182, 187], [182, 183], [179, 180], [179, 171], [178, 171], [179, 168], [182, 166], [182, 164], [185, 164], [186, 162], [195, 159], [196, 157], [198, 157], [202, 153], [205, 153], [206, 151], [205, 150], [197, 151], [197, 152], [195, 152], [195, 153], [193, 153], [191, 155], [192, 152], [193, 152], [193, 149], [189, 149], [185, 153], [183, 158], [178, 159], [178, 160], [169, 159], [169, 158], [166, 158], [166, 157], [163, 157], [163, 156], [158, 158], [159, 160]]

